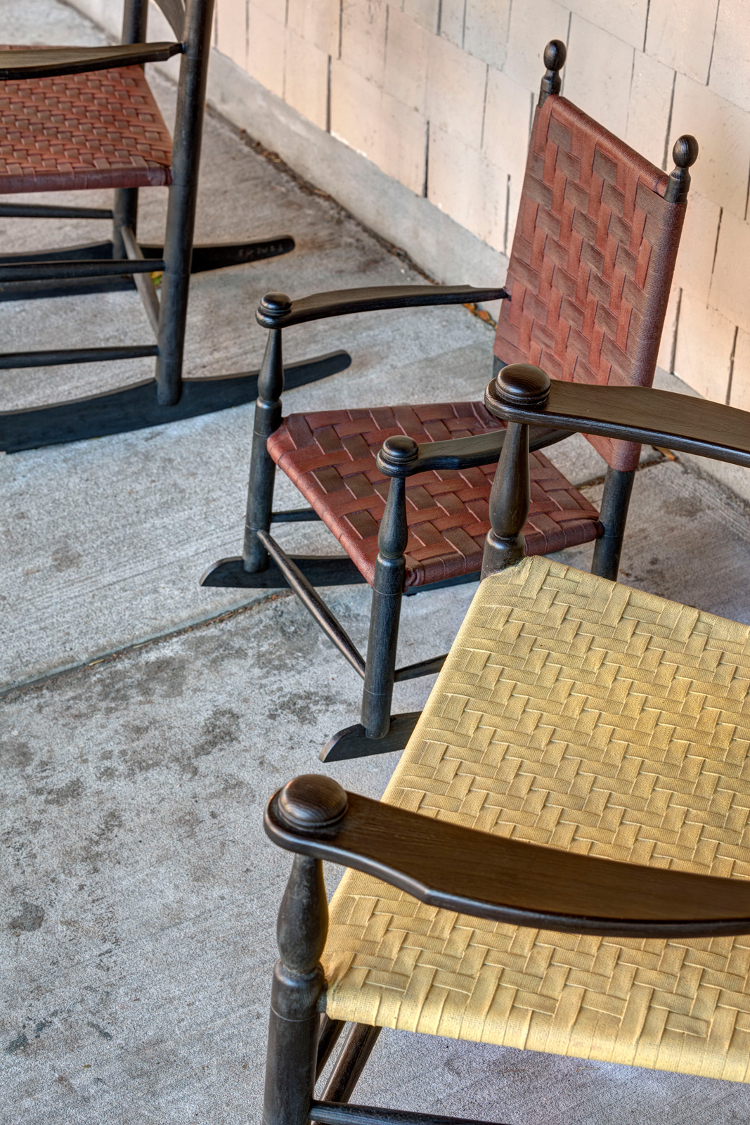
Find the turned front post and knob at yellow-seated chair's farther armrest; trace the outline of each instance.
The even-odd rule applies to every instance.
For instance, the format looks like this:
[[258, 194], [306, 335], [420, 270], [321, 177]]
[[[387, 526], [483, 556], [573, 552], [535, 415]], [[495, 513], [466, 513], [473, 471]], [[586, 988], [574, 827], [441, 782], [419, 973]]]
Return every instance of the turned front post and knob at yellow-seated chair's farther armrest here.
[[[549, 393], [550, 380], [544, 371], [531, 363], [512, 363], [487, 387], [485, 405], [490, 414], [501, 417], [504, 403], [541, 406]], [[530, 504], [528, 426], [509, 422], [489, 494], [490, 529], [482, 552], [482, 579], [525, 558], [523, 526]]]

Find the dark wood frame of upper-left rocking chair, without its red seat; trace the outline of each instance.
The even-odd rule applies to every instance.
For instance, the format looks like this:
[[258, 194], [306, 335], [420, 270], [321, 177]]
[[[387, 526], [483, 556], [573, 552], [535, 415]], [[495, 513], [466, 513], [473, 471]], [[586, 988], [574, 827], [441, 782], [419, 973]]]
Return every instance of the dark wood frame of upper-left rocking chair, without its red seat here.
[[[157, 0], [179, 42], [145, 43], [147, 0], [126, 0], [123, 43], [115, 47], [54, 47], [0, 52], [0, 82], [11, 79], [78, 74], [161, 62], [181, 55], [172, 150], [172, 183], [164, 245], [139, 244], [136, 237], [138, 188], [115, 191], [111, 210], [2, 202], [6, 217], [106, 218], [112, 237], [90, 246], [0, 255], [0, 300], [102, 292], [136, 286], [155, 335], [155, 343], [121, 348], [73, 348], [0, 353], [0, 368], [49, 367], [153, 356], [155, 378], [73, 403], [0, 412], [0, 450], [17, 452], [39, 446], [79, 441], [193, 417], [252, 402], [255, 372], [207, 380], [183, 394], [182, 363], [191, 273], [261, 261], [289, 253], [293, 238], [225, 243], [193, 248], [198, 166], [206, 101], [206, 79], [214, 0]], [[146, 273], [162, 271], [161, 297]], [[351, 363], [346, 352], [317, 357], [305, 364], [310, 382]], [[200, 384], [200, 385], [199, 385]]]

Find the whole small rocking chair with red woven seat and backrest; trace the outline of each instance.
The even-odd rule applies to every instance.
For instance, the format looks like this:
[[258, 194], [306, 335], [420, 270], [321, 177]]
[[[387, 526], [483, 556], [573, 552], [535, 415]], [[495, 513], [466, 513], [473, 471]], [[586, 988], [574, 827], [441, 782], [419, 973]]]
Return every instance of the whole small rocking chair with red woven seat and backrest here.
[[[362, 722], [334, 736], [326, 760], [404, 747], [416, 717], [391, 717], [394, 684], [437, 672], [444, 657], [396, 669], [400, 600], [478, 577], [505, 430], [479, 403], [282, 420], [281, 330], [342, 313], [499, 297], [496, 371], [523, 359], [572, 382], [644, 386], [653, 379], [697, 145], [681, 137], [678, 166], [661, 172], [560, 97], [564, 56], [557, 40], [544, 52], [548, 71], [504, 288], [399, 287], [293, 303], [271, 294], [261, 303], [257, 318], [270, 332], [244, 555], [217, 564], [204, 584], [289, 585], [363, 677]], [[640, 446], [589, 438], [607, 462], [598, 513], [539, 452], [562, 436], [553, 428], [534, 431], [527, 549], [546, 554], [596, 540], [593, 570], [615, 578]], [[277, 466], [309, 508], [271, 511]], [[395, 503], [386, 506], [389, 497]], [[347, 558], [288, 556], [270, 536], [272, 521], [308, 519], [323, 520]], [[367, 660], [315, 590], [363, 578], [373, 587]]]

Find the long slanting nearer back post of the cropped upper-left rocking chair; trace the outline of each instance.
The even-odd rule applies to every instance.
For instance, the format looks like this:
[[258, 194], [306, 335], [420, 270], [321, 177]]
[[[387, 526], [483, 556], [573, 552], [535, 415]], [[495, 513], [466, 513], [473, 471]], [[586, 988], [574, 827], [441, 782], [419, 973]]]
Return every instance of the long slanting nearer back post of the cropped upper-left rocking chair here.
[[156, 398], [161, 406], [174, 406], [182, 392], [184, 326], [213, 16], [214, 0], [188, 0], [174, 118], [172, 183], [166, 210], [159, 317]]

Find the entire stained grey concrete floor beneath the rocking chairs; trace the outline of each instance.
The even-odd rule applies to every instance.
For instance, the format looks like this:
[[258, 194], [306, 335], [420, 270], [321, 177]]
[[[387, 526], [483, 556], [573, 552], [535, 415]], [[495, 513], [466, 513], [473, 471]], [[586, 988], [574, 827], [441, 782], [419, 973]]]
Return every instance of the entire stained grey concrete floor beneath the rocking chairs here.
[[[55, 0], [1, 0], [0, 12], [9, 40], [33, 40], [39, 26], [48, 42], [99, 40]], [[154, 84], [169, 111], [172, 89]], [[417, 280], [219, 122], [208, 122], [205, 153], [199, 236], [289, 231], [298, 249], [196, 279], [191, 374], [257, 363], [253, 310], [265, 290]], [[162, 196], [144, 194], [145, 233], [159, 233]], [[80, 227], [51, 236], [53, 225], [2, 220], [0, 235], [9, 249], [88, 236]], [[78, 298], [0, 305], [3, 346], [115, 339], [126, 306], [137, 309], [137, 297], [111, 295], [96, 309]], [[479, 397], [491, 344], [462, 308], [293, 330], [290, 359], [344, 346], [353, 364], [293, 392], [288, 407]], [[0, 404], [144, 374], [135, 364], [8, 372]], [[331, 732], [355, 721], [359, 682], [287, 594], [253, 604], [198, 586], [208, 564], [240, 548], [251, 420], [243, 407], [0, 458], [3, 1125], [260, 1119], [274, 916], [289, 866], [263, 835], [262, 810], [275, 788], [317, 768]], [[551, 457], [596, 502], [603, 467], [590, 447], [571, 439]], [[279, 503], [292, 497], [280, 484]], [[283, 538], [325, 542], [314, 525]], [[750, 621], [749, 549], [743, 500], [694, 461], [644, 451], [623, 580]], [[585, 567], [590, 548], [561, 557]], [[407, 600], [404, 663], [449, 647], [472, 588]], [[368, 592], [327, 596], [363, 645]], [[422, 706], [430, 686], [398, 685], [398, 710]], [[335, 774], [377, 796], [394, 765], [386, 755]], [[514, 1125], [750, 1117], [739, 1084], [395, 1033], [381, 1036], [358, 1098]]]

